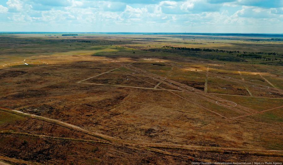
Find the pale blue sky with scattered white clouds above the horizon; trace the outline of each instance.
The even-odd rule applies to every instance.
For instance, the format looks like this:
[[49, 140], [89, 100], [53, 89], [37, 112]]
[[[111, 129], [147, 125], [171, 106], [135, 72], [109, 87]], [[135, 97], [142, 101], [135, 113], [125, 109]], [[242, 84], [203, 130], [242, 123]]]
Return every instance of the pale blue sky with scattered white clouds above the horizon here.
[[283, 0], [0, 0], [0, 31], [283, 33]]

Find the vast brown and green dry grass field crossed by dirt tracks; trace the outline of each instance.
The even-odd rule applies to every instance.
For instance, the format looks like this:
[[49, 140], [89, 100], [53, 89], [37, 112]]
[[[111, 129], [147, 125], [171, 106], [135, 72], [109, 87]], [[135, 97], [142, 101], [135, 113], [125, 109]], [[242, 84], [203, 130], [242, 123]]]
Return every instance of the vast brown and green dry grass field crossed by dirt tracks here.
[[222, 37], [1, 35], [0, 161], [282, 162], [283, 45]]

